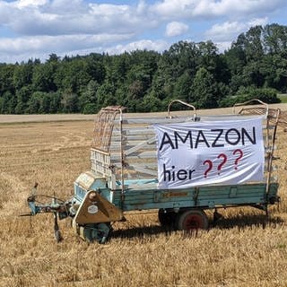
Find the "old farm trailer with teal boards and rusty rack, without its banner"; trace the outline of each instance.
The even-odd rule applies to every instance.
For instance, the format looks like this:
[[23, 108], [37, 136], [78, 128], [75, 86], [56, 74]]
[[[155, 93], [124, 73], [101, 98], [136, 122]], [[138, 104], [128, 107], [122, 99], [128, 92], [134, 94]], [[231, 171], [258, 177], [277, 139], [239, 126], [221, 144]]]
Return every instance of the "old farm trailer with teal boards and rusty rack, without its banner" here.
[[[190, 115], [190, 110], [171, 112], [171, 105], [174, 104], [186, 105], [191, 108], [193, 115]], [[122, 107], [101, 109], [96, 116], [93, 131], [91, 170], [82, 173], [74, 181], [74, 196], [65, 202], [52, 196], [52, 203], [42, 204], [37, 195], [38, 184], [35, 184], [32, 195], [27, 200], [31, 211], [29, 215], [53, 213], [57, 241], [61, 239], [57, 219], [71, 217], [74, 230], [81, 238], [89, 242], [105, 243], [109, 239], [113, 222], [125, 221], [125, 214], [131, 211], [158, 210], [162, 226], [187, 231], [208, 228], [204, 210], [213, 210], [213, 219], [219, 214], [218, 208], [244, 205], [259, 208], [267, 214], [268, 205], [279, 201], [278, 183], [272, 170], [275, 135], [277, 125], [281, 123], [281, 111], [269, 109], [261, 101], [256, 106], [248, 104], [249, 102], [244, 103], [243, 108], [234, 107], [231, 117], [200, 117], [194, 106], [181, 100], [172, 101], [165, 115], [150, 113], [132, 117], [124, 114]], [[235, 109], [239, 109], [237, 114]], [[200, 126], [206, 121], [224, 123], [230, 120], [235, 123], [241, 118], [258, 115], [264, 121], [262, 140], [265, 163], [262, 180], [239, 184], [211, 182], [190, 187], [159, 186], [159, 151], [153, 125], [185, 123], [187, 126]], [[248, 136], [250, 140], [250, 135]], [[181, 143], [187, 142], [187, 137], [180, 139]], [[198, 144], [204, 144], [204, 139], [201, 138]], [[204, 164], [209, 169], [213, 162], [204, 161]], [[208, 182], [206, 171], [203, 180]], [[164, 172], [167, 173], [167, 170]], [[175, 175], [170, 173], [165, 177], [176, 180]], [[186, 179], [188, 172], [178, 170], [177, 175]]]

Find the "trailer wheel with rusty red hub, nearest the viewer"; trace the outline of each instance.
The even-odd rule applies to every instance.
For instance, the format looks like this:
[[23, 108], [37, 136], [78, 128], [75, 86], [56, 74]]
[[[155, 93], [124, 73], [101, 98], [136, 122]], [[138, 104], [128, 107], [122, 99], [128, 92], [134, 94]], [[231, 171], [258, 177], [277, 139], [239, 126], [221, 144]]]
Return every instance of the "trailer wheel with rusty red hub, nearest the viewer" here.
[[208, 218], [203, 210], [187, 210], [178, 213], [177, 229], [178, 230], [207, 230]]

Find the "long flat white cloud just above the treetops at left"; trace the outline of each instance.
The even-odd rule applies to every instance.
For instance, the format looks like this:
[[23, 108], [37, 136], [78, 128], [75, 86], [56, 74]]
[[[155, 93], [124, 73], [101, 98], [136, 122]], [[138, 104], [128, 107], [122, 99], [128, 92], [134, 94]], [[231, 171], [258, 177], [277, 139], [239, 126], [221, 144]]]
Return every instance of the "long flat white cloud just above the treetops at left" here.
[[[39, 58], [45, 61], [48, 55], [56, 53], [59, 57], [86, 55], [90, 53], [121, 54], [136, 49], [163, 51], [170, 43], [163, 40], [142, 39], [126, 45], [114, 45], [116, 42], [130, 39], [131, 35], [69, 35], [39, 36], [0, 41], [0, 59], [4, 62], [22, 62], [23, 59]], [[11, 57], [13, 55], [13, 57]], [[0, 62], [1, 62], [0, 61]]]

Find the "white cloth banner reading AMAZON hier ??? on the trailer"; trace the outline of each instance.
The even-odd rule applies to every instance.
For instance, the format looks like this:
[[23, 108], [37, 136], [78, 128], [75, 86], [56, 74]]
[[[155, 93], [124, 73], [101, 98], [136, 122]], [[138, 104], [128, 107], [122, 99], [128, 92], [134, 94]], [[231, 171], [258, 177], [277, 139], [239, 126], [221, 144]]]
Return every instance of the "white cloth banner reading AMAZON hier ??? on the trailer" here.
[[154, 125], [159, 188], [262, 181], [262, 117]]

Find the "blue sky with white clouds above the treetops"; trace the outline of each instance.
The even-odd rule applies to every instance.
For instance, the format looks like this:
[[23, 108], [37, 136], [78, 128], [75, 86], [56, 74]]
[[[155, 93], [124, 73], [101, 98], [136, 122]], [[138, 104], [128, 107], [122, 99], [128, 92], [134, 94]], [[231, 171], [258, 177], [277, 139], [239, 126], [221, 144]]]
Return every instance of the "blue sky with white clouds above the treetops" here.
[[287, 25], [286, 0], [0, 0], [0, 63], [211, 39], [220, 51], [254, 25]]

